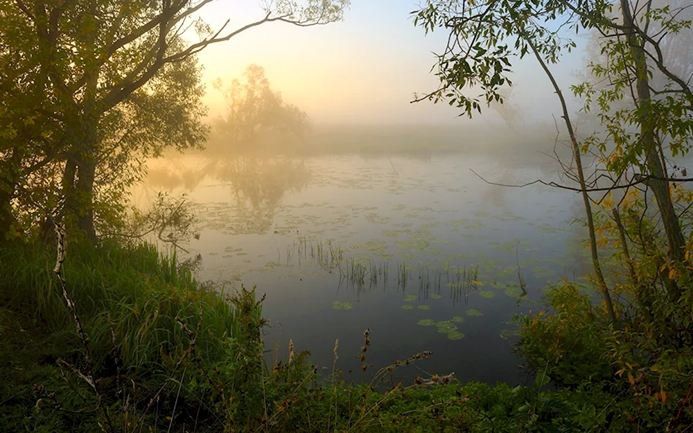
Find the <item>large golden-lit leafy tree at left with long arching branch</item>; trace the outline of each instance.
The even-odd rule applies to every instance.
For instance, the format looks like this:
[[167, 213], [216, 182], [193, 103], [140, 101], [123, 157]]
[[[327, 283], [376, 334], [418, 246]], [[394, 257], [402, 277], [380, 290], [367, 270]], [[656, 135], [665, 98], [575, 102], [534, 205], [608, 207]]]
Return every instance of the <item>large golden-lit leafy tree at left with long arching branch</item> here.
[[[265, 17], [236, 30], [227, 29], [229, 21], [212, 30], [193, 19], [209, 3], [0, 2], [0, 89], [3, 100], [24, 100], [19, 109], [3, 107], [12, 112], [3, 131], [17, 131], [0, 148], [4, 213], [10, 209], [16, 216], [12, 203], [32, 177], [58, 165], [60, 187], [57, 179], [51, 182], [53, 195], [64, 196], [62, 214], [96, 240], [94, 203], [104, 186], [97, 181], [122, 173], [134, 157], [202, 143], [206, 128], [195, 54], [269, 22], [313, 26], [342, 19], [349, 0], [306, 0], [302, 7], [277, 0], [268, 3]], [[188, 42], [191, 28], [198, 42]], [[21, 118], [37, 127], [20, 129]], [[0, 229], [5, 220], [6, 215]]]

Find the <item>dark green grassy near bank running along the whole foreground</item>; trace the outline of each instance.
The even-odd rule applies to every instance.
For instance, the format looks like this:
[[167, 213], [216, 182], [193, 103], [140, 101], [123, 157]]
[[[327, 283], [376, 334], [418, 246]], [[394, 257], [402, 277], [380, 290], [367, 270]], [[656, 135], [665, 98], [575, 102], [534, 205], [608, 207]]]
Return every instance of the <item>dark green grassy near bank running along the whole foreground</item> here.
[[[553, 315], [518, 319], [534, 385], [396, 382], [391, 373], [430, 354], [370, 366], [366, 331], [360, 353], [335, 342], [330, 375], [292, 345], [267, 366], [254, 290], [206, 290], [148, 245], [67, 251], [62, 275], [86, 342], [52, 272], [53, 247], [0, 249], [0, 431], [660, 432], [676, 416], [669, 431], [683, 432], [690, 421], [690, 367], [667, 388], [669, 403], [638, 403], [604, 355], [604, 317], [570, 285], [547, 298]], [[347, 384], [339, 357], [355, 355], [367, 381]]]

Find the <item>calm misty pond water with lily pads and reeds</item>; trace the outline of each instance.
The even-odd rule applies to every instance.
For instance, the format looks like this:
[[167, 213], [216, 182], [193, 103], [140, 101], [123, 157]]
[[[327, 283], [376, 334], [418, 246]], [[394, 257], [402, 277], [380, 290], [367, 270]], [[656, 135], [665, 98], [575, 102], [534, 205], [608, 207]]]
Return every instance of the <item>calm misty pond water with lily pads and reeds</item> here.
[[429, 350], [428, 373], [515, 384], [509, 321], [541, 308], [547, 282], [584, 274], [581, 208], [572, 193], [492, 186], [469, 168], [508, 184], [552, 177], [462, 155], [181, 157], [151, 161], [134, 202], [169, 191], [195, 203], [200, 239], [186, 247], [202, 256], [200, 279], [267, 294], [267, 344], [285, 358], [292, 339], [331, 371], [339, 339], [337, 367], [360, 378], [369, 328], [374, 369]]

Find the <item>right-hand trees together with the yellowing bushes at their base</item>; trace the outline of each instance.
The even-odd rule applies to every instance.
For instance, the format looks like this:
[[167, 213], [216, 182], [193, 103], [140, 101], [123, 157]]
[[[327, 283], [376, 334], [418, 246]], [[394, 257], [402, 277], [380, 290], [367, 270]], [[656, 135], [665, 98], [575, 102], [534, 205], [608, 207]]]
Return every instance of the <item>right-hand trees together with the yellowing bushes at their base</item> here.
[[[550, 368], [560, 374], [561, 367], [570, 367], [561, 359], [574, 346], [586, 339], [601, 340], [593, 347], [603, 347], [598, 358], [608, 362], [599, 373], [607, 379], [598, 387], [618, 390], [613, 391], [614, 400], [624, 398], [624, 391], [631, 392], [624, 405], [629, 408], [626, 422], [636, 430], [640, 426], [666, 425], [667, 431], [690, 427], [690, 418], [681, 416], [683, 403], [665, 405], [667, 398], [688, 400], [693, 372], [693, 245], [686, 244], [684, 234], [693, 219], [688, 211], [693, 197], [674, 185], [691, 179], [667, 175], [667, 157], [686, 154], [693, 144], [693, 91], [690, 78], [678, 75], [685, 69], [674, 69], [677, 62], [667, 59], [663, 49], [667, 40], [690, 30], [691, 20], [682, 15], [686, 8], [683, 3], [658, 7], [652, 0], [635, 4], [628, 0], [429, 0], [413, 12], [415, 25], [427, 32], [444, 28], [449, 33], [448, 45], [438, 55], [440, 86], [416, 100], [446, 100], [471, 117], [484, 104], [500, 100], [499, 89], [512, 84], [508, 78], [515, 58], [528, 54], [549, 78], [560, 103], [562, 126], [570, 137], [575, 168], [559, 162], [578, 186], [545, 183], [572, 189], [584, 198], [595, 283], [604, 297], [604, 308], [593, 314], [592, 301], [577, 295], [575, 285], [566, 281], [550, 290], [556, 314], [542, 313], [525, 323], [525, 335], [534, 338], [534, 343], [526, 343], [542, 341], [541, 362], [535, 365], [547, 371], [553, 362]], [[597, 111], [599, 130], [580, 141], [551, 68], [565, 51], [575, 48], [570, 35], [593, 31], [601, 36], [603, 57], [590, 63], [590, 75], [602, 82], [599, 86], [577, 82], [571, 89], [584, 100], [584, 111]], [[473, 89], [480, 94], [469, 96]], [[595, 158], [595, 173], [585, 173], [583, 157]], [[654, 195], [656, 211], [649, 210], [648, 194]], [[604, 256], [597, 255], [597, 249], [606, 252], [607, 245], [606, 260], [615, 277], [608, 282], [601, 270]], [[581, 309], [574, 301], [590, 308]], [[584, 317], [586, 311], [596, 332], [561, 341], [562, 330], [574, 326], [571, 319]], [[572, 383], [589, 386], [594, 378], [595, 371], [590, 369]], [[641, 413], [642, 396], [655, 390], [657, 395], [648, 404], [658, 399], [658, 406]], [[631, 408], [637, 409], [631, 412]]]

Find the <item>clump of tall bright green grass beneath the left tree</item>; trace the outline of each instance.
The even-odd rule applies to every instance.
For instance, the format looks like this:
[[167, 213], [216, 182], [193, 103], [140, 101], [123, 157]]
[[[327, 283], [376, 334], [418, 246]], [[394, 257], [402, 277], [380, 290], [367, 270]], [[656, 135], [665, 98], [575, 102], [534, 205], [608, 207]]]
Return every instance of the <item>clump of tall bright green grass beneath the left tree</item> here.
[[[58, 344], [76, 344], [60, 283], [51, 272], [53, 249], [6, 247], [0, 251], [0, 263], [3, 304], [33, 312], [35, 321], [64, 338]], [[225, 297], [200, 288], [191, 269], [179, 266], [175, 253], [159, 254], [152, 245], [70, 244], [63, 275], [94, 353], [99, 354], [94, 359], [97, 368], [112, 362], [109, 353], [117, 349], [124, 371], [157, 371], [157, 366], [182, 353], [187, 342], [175, 318], [195, 321], [200, 304], [204, 312], [198, 351], [207, 360], [221, 359], [222, 339], [238, 328], [234, 308]]]

